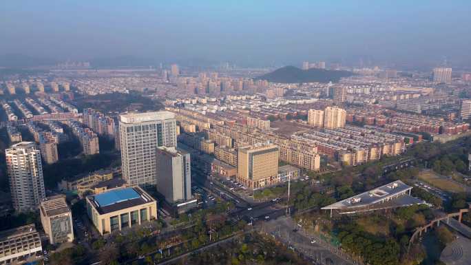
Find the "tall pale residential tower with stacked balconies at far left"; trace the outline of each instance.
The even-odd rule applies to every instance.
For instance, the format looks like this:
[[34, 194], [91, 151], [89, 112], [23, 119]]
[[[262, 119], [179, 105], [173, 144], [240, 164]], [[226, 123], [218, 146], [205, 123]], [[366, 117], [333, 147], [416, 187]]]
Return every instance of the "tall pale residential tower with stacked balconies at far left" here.
[[16, 211], [34, 211], [45, 198], [41, 152], [34, 142], [19, 142], [5, 150], [10, 192]]

